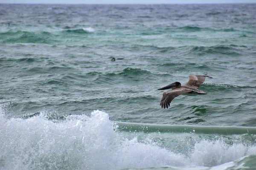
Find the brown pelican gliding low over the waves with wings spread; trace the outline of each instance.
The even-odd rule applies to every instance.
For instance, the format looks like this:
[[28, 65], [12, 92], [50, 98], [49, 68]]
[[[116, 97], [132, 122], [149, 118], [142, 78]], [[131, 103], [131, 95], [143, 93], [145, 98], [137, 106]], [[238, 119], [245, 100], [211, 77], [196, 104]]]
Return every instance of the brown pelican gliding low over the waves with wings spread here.
[[[166, 91], [163, 93], [160, 106], [162, 106], [162, 108], [168, 108], [170, 106], [170, 103], [172, 102], [172, 99], [179, 96], [180, 94], [182, 95], [207, 94], [207, 91], [198, 90], [200, 85], [204, 82], [205, 77], [209, 77], [209, 76], [207, 76], [207, 74], [204, 74], [203, 76], [190, 75], [189, 81], [185, 85], [181, 85], [180, 82], [174, 82], [163, 88], [157, 89], [157, 90], [166, 90], [166, 89], [172, 88], [172, 90]], [[209, 78], [212, 79], [212, 77], [209, 77]]]

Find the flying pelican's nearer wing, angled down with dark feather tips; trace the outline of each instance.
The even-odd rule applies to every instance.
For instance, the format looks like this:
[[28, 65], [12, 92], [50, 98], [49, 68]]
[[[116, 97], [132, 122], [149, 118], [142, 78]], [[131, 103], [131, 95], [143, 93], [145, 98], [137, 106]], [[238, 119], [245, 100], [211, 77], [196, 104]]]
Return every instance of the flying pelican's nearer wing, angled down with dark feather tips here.
[[163, 93], [160, 106], [162, 108], [168, 108], [170, 106], [170, 103], [172, 102], [172, 99], [179, 96], [180, 94], [189, 93], [191, 91], [192, 90], [189, 90], [187, 88], [175, 88], [174, 90], [166, 91]]

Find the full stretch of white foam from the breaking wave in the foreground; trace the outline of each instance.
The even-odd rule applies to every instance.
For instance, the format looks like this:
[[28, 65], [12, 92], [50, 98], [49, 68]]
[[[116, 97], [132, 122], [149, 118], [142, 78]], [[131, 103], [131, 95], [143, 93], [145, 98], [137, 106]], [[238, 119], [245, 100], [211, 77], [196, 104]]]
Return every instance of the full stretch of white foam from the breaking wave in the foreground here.
[[256, 154], [255, 146], [205, 139], [192, 144], [192, 151], [188, 150], [185, 156], [152, 141], [125, 138], [122, 132], [116, 132], [108, 113], [98, 110], [91, 116], [71, 115], [59, 122], [48, 120], [47, 112], [28, 119], [6, 119], [2, 108], [0, 112], [0, 170], [119, 170], [161, 166], [200, 169]]

